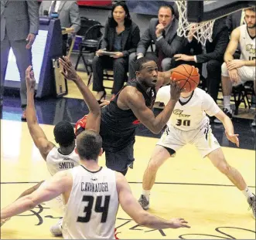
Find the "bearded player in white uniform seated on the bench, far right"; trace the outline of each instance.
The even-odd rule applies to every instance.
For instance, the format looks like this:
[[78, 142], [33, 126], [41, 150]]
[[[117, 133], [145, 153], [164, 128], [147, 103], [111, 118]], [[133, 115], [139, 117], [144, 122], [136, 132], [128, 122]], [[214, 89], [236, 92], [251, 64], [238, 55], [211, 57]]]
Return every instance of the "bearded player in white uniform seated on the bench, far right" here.
[[[224, 54], [224, 62], [221, 67], [222, 93], [224, 96], [224, 113], [230, 118], [232, 110], [230, 109], [230, 97], [232, 86], [237, 86], [246, 81], [254, 81], [254, 92], [256, 93], [255, 84], [255, 37], [256, 37], [256, 19], [255, 7], [244, 10], [244, 20], [246, 25], [241, 25], [234, 29], [230, 36], [230, 42]], [[234, 52], [240, 45], [241, 57], [234, 59]], [[255, 127], [256, 118], [252, 126]]]

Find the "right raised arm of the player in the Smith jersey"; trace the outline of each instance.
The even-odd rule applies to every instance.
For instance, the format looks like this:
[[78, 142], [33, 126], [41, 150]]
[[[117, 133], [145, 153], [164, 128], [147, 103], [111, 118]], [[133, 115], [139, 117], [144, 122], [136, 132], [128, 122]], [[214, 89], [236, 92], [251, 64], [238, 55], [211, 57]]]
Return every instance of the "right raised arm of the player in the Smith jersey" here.
[[63, 56], [63, 59], [59, 59], [59, 61], [60, 65], [63, 67], [63, 71], [61, 73], [65, 78], [72, 80], [77, 85], [89, 108], [86, 128], [99, 133], [101, 124], [101, 107], [97, 103], [93, 93], [90, 92], [83, 80], [77, 74], [77, 71], [72, 66], [70, 59], [68, 59], [67, 56]]

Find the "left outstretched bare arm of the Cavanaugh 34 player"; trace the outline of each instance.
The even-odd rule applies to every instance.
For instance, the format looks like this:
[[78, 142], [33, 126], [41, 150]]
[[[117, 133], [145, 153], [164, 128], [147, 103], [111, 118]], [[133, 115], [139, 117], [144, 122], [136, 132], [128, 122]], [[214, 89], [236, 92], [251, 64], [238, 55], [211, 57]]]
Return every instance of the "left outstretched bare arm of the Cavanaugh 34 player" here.
[[35, 208], [36, 205], [44, 201], [52, 200], [60, 194], [69, 191], [72, 188], [73, 180], [68, 171], [60, 171], [56, 173], [49, 181], [42, 185], [32, 194], [19, 198], [11, 205], [1, 210], [1, 219], [11, 218], [19, 215], [24, 211]]

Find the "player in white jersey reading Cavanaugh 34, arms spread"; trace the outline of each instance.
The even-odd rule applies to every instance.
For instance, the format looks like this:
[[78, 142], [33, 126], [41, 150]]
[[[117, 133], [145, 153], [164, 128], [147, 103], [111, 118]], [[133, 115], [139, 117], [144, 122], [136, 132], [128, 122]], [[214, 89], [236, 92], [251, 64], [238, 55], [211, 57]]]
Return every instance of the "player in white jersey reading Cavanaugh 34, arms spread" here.
[[65, 239], [113, 239], [119, 203], [138, 225], [155, 229], [189, 228], [183, 218], [168, 221], [144, 211], [125, 177], [97, 164], [103, 152], [101, 147], [101, 136], [94, 130], [85, 130], [77, 137], [80, 166], [57, 172], [32, 194], [4, 208], [1, 219], [19, 215], [63, 194]]

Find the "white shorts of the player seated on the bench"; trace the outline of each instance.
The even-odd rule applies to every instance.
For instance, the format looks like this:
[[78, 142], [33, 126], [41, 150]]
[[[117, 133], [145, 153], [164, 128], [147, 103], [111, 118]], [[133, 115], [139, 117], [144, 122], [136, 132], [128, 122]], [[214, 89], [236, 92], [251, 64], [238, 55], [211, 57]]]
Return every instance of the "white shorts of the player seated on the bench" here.
[[[247, 81], [255, 81], [255, 67], [254, 66], [242, 66], [241, 68], [237, 69], [237, 71], [238, 71], [238, 75], [240, 76], [240, 80], [238, 81], [238, 83], [233, 83], [233, 86], [240, 85]], [[229, 76], [226, 63], [223, 63], [221, 66], [221, 75]]]

